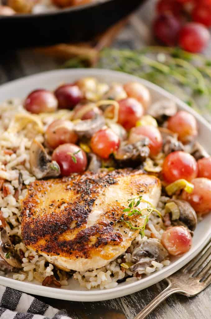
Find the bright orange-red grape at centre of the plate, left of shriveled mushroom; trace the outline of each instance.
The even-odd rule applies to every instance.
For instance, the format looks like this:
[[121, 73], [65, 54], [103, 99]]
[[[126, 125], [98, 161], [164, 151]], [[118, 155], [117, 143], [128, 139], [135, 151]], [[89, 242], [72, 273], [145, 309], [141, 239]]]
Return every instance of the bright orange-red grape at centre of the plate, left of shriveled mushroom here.
[[111, 129], [99, 130], [91, 138], [91, 149], [98, 156], [108, 159], [120, 146], [120, 139]]

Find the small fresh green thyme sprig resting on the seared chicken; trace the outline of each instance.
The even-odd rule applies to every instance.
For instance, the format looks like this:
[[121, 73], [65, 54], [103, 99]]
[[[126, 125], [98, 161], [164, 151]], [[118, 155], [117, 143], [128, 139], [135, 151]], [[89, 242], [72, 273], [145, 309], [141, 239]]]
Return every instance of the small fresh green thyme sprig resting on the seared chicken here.
[[[135, 202], [135, 199], [137, 199], [136, 202]], [[150, 202], [148, 202], [147, 200], [143, 199], [142, 196], [137, 196], [135, 198], [128, 199], [127, 202], [130, 202], [130, 204], [128, 205], [128, 208], [125, 208], [123, 210], [123, 212], [127, 212], [128, 213], [127, 216], [141, 215], [140, 218], [144, 219], [144, 224], [143, 224], [143, 226], [139, 226], [139, 227], [133, 226], [130, 221], [124, 219], [124, 214], [122, 215], [121, 220], [124, 220], [124, 222], [130, 227], [130, 229], [133, 229], [133, 230], [139, 229], [140, 230], [139, 233], [142, 236], [142, 238], [143, 238], [143, 236], [145, 234], [144, 231], [145, 231], [146, 225], [147, 225], [147, 223], [149, 221], [149, 215], [152, 212], [156, 212], [158, 214], [158, 216], [161, 219], [163, 219], [163, 216], [161, 215], [161, 213]], [[142, 208], [141, 210], [135, 208], [141, 202], [147, 203], [148, 206], [145, 207], [145, 208]], [[143, 213], [144, 211], [148, 212], [148, 214], [144, 214]]]

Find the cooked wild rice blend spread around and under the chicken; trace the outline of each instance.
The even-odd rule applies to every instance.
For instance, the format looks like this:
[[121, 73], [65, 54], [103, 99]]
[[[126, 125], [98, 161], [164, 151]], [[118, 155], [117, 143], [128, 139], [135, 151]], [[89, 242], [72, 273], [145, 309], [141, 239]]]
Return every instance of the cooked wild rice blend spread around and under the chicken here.
[[[63, 113], [62, 113], [63, 112]], [[57, 118], [68, 118], [69, 111], [58, 111], [55, 116]], [[11, 122], [14, 121], [16, 114], [27, 114], [23, 108], [22, 103], [18, 99], [4, 102], [0, 109], [0, 207], [2, 217], [6, 221], [5, 229], [7, 233], [12, 236], [20, 237], [21, 242], [15, 245], [17, 253], [22, 259], [22, 267], [19, 273], [13, 274], [13, 279], [38, 281], [44, 285], [51, 283], [56, 286], [67, 286], [69, 274], [58, 270], [60, 283], [55, 280], [54, 266], [47, 262], [45, 257], [39, 255], [33, 250], [27, 249], [24, 246], [21, 237], [20, 226], [20, 200], [25, 197], [26, 185], [29, 185], [35, 180], [35, 177], [30, 173], [29, 164], [29, 148], [33, 138], [36, 138], [40, 143], [43, 143], [44, 137], [36, 131], [32, 123], [28, 123], [22, 130], [12, 133]], [[43, 117], [42, 123], [44, 129], [50, 122], [55, 120], [54, 115], [46, 115]], [[10, 130], [8, 131], [8, 127]], [[16, 126], [14, 126], [16, 127]], [[157, 159], [161, 162], [162, 156]], [[161, 197], [158, 204], [158, 209], [164, 215], [164, 204], [168, 197]], [[133, 274], [129, 269], [124, 269], [120, 264], [124, 262], [131, 262], [132, 252], [136, 245], [140, 245], [142, 241], [152, 236], [160, 240], [163, 232], [162, 220], [155, 215], [151, 215], [149, 223], [145, 231], [145, 237], [141, 238], [140, 235], [132, 242], [127, 252], [120, 256], [118, 259], [107, 264], [105, 267], [92, 271], [76, 271], [73, 278], [79, 284], [87, 289], [92, 287], [114, 288], [118, 285], [118, 281], [126, 278], [127, 282], [134, 282], [140, 280], [143, 275], [148, 275], [156, 270], [170, 263], [169, 260], [164, 260], [162, 263], [152, 262], [150, 267], [146, 267], [144, 271], [131, 277]], [[0, 225], [2, 221], [0, 220]], [[129, 277], [129, 278], [128, 278]]]

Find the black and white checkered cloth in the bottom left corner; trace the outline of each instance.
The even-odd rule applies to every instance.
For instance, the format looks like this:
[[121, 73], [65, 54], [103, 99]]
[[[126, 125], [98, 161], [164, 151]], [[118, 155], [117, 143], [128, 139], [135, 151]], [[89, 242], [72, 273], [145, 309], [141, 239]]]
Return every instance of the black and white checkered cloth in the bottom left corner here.
[[71, 319], [58, 310], [18, 290], [0, 286], [0, 319]]

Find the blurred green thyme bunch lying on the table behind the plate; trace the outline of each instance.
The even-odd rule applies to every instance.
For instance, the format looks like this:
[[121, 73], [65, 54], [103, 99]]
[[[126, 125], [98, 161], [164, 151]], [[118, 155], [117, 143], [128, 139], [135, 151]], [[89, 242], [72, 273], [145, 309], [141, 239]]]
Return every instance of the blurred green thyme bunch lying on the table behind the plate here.
[[[97, 61], [93, 59], [94, 56], [87, 58], [90, 64]], [[75, 58], [67, 61], [64, 67], [77, 66], [73, 62]], [[80, 62], [84, 62], [83, 57]], [[87, 65], [89, 63], [84, 66]], [[211, 60], [206, 56], [162, 46], [141, 50], [105, 48], [99, 52], [94, 67], [122, 71], [147, 79], [206, 116], [207, 110], [211, 109]], [[211, 118], [208, 120], [211, 121]]]

